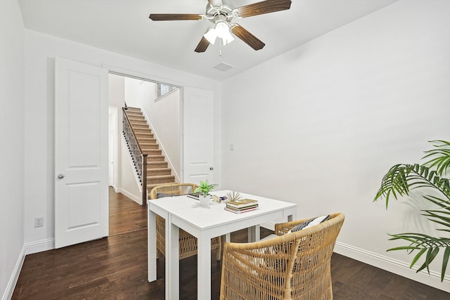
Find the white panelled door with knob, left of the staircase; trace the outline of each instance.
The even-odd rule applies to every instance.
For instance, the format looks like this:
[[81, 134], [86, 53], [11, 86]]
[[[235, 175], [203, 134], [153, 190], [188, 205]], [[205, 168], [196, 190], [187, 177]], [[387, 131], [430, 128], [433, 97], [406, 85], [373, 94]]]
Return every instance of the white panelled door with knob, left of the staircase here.
[[108, 236], [108, 70], [56, 58], [55, 247]]

